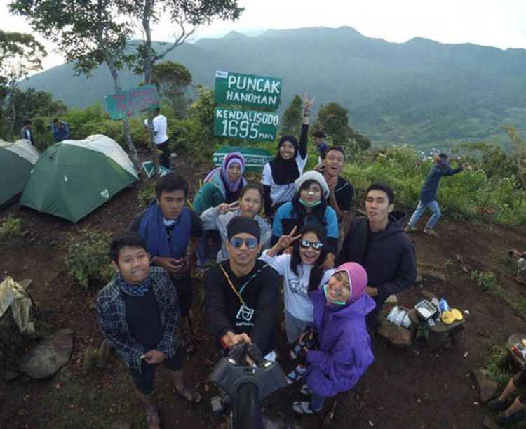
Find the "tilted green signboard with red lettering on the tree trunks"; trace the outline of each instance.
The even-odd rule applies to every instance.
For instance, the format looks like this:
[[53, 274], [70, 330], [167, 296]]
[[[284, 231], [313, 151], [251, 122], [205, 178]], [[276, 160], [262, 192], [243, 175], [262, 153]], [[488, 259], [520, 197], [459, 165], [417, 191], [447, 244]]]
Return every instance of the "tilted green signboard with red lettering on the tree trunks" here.
[[120, 93], [106, 95], [109, 117], [123, 119], [146, 112], [151, 107], [159, 107], [159, 95], [154, 84], [128, 89]]

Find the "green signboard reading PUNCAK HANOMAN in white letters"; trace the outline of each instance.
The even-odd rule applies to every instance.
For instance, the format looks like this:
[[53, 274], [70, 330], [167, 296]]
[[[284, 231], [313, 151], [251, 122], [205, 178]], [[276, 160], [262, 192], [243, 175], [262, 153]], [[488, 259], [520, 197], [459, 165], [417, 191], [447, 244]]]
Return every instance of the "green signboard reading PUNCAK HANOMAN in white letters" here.
[[215, 103], [276, 110], [281, 103], [281, 79], [231, 72], [215, 72]]

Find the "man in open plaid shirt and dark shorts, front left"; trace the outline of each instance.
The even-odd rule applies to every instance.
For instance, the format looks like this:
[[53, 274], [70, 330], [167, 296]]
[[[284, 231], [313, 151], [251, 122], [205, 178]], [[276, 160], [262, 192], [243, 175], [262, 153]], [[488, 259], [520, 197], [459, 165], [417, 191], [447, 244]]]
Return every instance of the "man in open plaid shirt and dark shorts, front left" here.
[[151, 393], [161, 362], [170, 370], [175, 394], [201, 401], [201, 395], [183, 382], [177, 294], [163, 268], [150, 268], [146, 243], [136, 232], [115, 237], [110, 256], [117, 274], [97, 296], [100, 329], [130, 371], [135, 393], [147, 409], [148, 427], [160, 428]]

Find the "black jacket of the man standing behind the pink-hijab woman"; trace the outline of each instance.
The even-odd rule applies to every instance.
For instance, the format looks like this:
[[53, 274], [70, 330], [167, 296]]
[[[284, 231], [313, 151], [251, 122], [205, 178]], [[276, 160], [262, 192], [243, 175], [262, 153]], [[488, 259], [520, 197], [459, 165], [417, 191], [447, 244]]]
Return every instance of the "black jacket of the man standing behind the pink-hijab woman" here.
[[407, 289], [417, 278], [414, 246], [403, 231], [405, 214], [393, 212], [385, 230], [372, 234], [365, 216], [355, 218], [347, 233], [337, 265], [356, 262], [367, 271], [371, 287], [378, 288], [377, 308], [382, 308], [389, 295]]

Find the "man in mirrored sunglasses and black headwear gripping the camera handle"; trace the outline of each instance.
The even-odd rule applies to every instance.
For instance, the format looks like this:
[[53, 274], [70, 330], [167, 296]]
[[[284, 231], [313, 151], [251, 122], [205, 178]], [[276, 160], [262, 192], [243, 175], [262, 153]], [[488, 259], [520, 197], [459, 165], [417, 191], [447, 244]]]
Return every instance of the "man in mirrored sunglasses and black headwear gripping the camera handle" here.
[[227, 235], [230, 259], [210, 268], [203, 277], [206, 314], [217, 350], [225, 353], [246, 341], [257, 344], [265, 359], [274, 361], [279, 275], [257, 259], [261, 244], [255, 220], [231, 219]]

